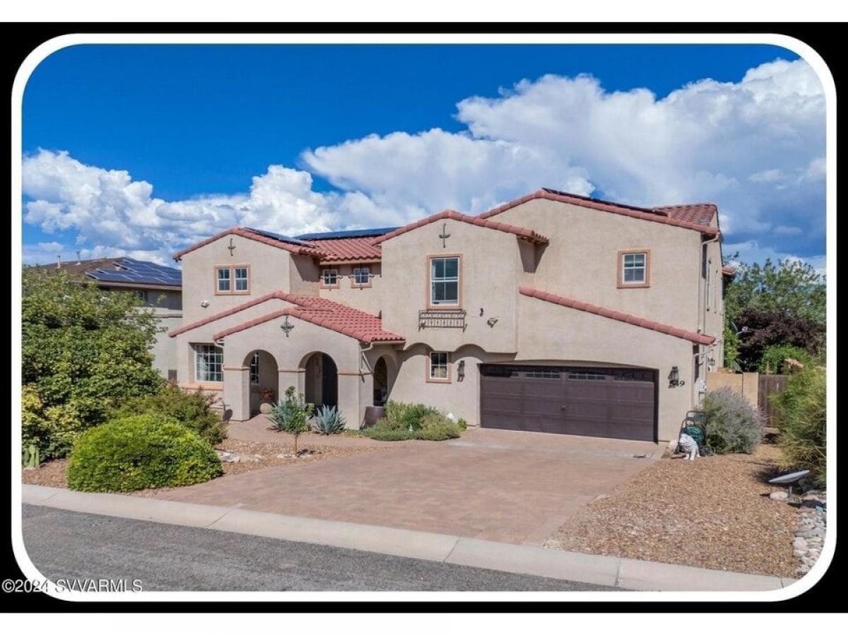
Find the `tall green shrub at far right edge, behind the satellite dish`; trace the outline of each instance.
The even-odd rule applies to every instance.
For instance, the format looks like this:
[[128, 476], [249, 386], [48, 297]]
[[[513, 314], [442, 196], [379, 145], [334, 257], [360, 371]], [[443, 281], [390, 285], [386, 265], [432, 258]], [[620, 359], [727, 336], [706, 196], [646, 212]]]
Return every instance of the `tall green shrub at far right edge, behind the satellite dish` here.
[[816, 367], [792, 373], [786, 390], [770, 398], [778, 410], [784, 467], [809, 470], [818, 486], [825, 482], [826, 398], [826, 374]]

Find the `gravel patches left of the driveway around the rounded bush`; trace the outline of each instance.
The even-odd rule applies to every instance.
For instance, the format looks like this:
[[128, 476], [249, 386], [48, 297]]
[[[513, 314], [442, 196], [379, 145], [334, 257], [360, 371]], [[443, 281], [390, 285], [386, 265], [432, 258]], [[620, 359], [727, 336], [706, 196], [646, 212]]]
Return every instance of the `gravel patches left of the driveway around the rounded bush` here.
[[[311, 436], [310, 436], [311, 437]], [[318, 436], [315, 436], [318, 437]], [[326, 439], [326, 438], [325, 438]], [[238, 475], [247, 471], [256, 471], [269, 466], [282, 466], [285, 464], [303, 463], [304, 461], [328, 460], [334, 457], [346, 455], [359, 455], [377, 450], [386, 450], [390, 446], [346, 446], [346, 445], [321, 445], [314, 444], [310, 439], [309, 444], [304, 441], [298, 445], [299, 450], [311, 452], [294, 456], [292, 444], [281, 444], [275, 442], [246, 442], [239, 439], [226, 439], [218, 444], [219, 455], [223, 455], [221, 467], [224, 474], [219, 479], [228, 475]], [[34, 483], [39, 486], [52, 486], [53, 488], [67, 488], [68, 460], [48, 461], [36, 469], [23, 471], [23, 482]], [[142, 497], [153, 497], [163, 490], [174, 488], [158, 488], [138, 490], [134, 494]]]

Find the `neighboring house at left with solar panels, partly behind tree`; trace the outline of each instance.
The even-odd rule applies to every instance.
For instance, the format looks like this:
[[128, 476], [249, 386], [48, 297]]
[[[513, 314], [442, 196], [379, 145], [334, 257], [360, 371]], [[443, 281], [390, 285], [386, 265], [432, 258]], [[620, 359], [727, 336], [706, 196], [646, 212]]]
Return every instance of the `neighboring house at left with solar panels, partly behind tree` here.
[[176, 380], [175, 343], [168, 332], [182, 324], [181, 271], [126, 257], [49, 263], [36, 265], [36, 269], [64, 271], [71, 279], [92, 280], [110, 292], [136, 293], [143, 306], [159, 319], [159, 332], [151, 350], [153, 367], [163, 377]]

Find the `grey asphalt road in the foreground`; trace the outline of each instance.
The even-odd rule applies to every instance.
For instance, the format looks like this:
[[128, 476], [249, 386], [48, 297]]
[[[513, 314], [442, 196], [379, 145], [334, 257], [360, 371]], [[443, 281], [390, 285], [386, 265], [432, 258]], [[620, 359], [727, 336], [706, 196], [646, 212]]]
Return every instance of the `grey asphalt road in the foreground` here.
[[26, 550], [52, 580], [145, 590], [598, 590], [600, 585], [24, 505]]

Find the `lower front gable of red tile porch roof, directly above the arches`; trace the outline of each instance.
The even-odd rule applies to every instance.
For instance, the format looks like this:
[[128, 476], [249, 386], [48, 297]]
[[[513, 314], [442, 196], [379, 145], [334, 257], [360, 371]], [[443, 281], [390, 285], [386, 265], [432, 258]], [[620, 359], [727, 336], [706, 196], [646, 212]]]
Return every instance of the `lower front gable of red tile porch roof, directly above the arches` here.
[[334, 332], [343, 333], [350, 338], [356, 338], [363, 343], [404, 341], [404, 338], [396, 333], [383, 331], [382, 320], [376, 315], [366, 314], [364, 311], [355, 310], [346, 304], [336, 303], [326, 298], [315, 298], [315, 300], [318, 302], [310, 303], [307, 306], [285, 307], [252, 321], [229, 327], [215, 333], [213, 338], [219, 340], [231, 333], [244, 331], [283, 315], [291, 315], [302, 321], [308, 321]]

